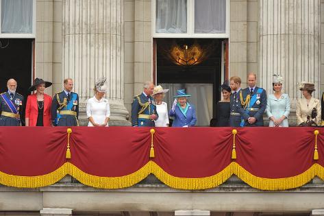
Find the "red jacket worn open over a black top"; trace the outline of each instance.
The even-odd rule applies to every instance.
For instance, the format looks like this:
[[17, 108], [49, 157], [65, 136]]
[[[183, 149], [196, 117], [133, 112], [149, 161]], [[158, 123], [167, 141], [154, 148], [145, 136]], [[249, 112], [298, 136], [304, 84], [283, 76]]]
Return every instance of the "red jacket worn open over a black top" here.
[[[42, 117], [44, 126], [51, 126], [51, 105], [52, 98], [49, 95], [44, 94], [44, 115]], [[38, 104], [37, 96], [28, 95], [25, 118], [29, 119], [29, 126], [36, 126], [38, 117]]]

